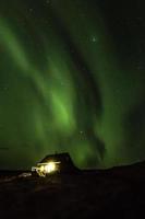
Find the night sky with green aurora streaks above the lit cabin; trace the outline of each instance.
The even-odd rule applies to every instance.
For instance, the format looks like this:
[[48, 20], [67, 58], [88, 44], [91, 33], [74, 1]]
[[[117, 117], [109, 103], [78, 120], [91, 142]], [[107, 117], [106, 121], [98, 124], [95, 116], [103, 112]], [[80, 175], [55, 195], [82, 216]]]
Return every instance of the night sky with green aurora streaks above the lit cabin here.
[[145, 160], [144, 1], [0, 1], [0, 169]]

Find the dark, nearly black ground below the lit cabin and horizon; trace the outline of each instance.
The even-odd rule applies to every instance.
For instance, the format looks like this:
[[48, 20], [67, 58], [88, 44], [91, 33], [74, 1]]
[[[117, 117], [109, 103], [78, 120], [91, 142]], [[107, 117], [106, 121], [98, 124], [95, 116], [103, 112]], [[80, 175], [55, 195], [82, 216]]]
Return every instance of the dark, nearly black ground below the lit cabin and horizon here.
[[34, 177], [1, 172], [0, 218], [145, 218], [145, 163]]

